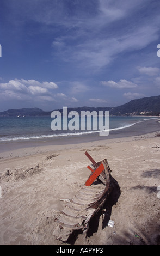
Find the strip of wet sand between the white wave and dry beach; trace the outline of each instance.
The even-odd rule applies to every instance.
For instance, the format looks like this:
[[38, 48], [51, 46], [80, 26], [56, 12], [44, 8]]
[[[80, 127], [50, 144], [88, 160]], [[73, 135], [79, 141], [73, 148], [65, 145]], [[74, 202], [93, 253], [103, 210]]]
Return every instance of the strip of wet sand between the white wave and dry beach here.
[[[71, 136], [67, 138], [43, 138], [43, 139], [29, 139], [22, 141], [8, 141], [0, 143], [0, 159], [3, 157], [18, 157], [25, 155], [32, 155], [39, 152], [52, 151], [60, 148], [71, 148], [76, 145], [83, 145], [85, 143], [110, 143], [116, 139], [130, 138], [138, 136], [149, 136], [152, 133], [160, 131], [158, 119], [147, 120], [136, 123], [130, 127], [121, 130], [114, 130], [108, 136], [99, 136], [99, 132], [90, 135]], [[74, 145], [74, 146], [73, 146]], [[30, 153], [29, 153], [30, 150]], [[26, 151], [26, 152], [24, 152]], [[27, 154], [26, 154], [27, 153]]]

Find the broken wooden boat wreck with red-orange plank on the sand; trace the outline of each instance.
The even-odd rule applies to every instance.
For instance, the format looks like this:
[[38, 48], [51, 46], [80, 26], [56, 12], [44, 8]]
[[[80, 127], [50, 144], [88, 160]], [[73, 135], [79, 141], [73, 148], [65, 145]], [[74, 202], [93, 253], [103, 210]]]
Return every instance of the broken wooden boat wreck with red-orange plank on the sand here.
[[85, 152], [93, 167], [89, 178], [79, 192], [72, 198], [67, 199], [67, 204], [58, 217], [54, 220], [57, 227], [53, 231], [56, 239], [66, 242], [74, 230], [82, 229], [87, 233], [91, 218], [102, 208], [110, 192], [112, 191], [112, 177], [107, 159], [95, 162]]

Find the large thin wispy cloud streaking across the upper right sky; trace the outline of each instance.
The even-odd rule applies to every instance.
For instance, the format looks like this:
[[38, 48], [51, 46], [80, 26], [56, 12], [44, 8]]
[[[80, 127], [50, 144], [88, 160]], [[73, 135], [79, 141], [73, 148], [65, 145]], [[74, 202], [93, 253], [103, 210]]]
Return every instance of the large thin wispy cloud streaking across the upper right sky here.
[[[124, 8], [124, 5], [122, 6]], [[113, 19], [116, 19], [117, 15], [120, 18], [124, 15], [123, 8], [106, 8], [105, 13], [108, 17], [110, 15], [113, 17], [114, 13]], [[112, 35], [108, 31], [108, 21], [105, 20], [105, 17], [105, 15], [103, 19], [99, 16], [95, 17], [92, 24], [91, 20], [85, 21], [85, 25], [79, 22], [74, 36], [71, 36], [70, 33], [54, 39], [52, 43], [54, 56], [57, 54], [57, 57], [65, 62], [76, 63], [79, 69], [81, 68], [87, 72], [89, 70], [99, 72], [100, 69], [116, 59], [120, 53], [141, 50], [151, 42], [158, 40], [159, 27], [153, 21], [147, 25], [143, 22], [134, 24], [132, 29], [121, 29], [121, 33], [115, 30], [115, 34]], [[105, 27], [109, 36], [103, 32]], [[103, 29], [102, 32], [101, 29]]]

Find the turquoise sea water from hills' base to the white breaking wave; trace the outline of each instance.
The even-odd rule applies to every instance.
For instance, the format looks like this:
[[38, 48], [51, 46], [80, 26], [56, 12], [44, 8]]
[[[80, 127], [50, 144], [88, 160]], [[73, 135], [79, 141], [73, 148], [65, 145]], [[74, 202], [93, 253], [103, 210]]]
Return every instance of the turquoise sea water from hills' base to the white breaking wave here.
[[[154, 117], [110, 117], [109, 131], [120, 131], [126, 127], [134, 126], [137, 123], [145, 122]], [[19, 141], [19, 140], [36, 140], [43, 138], [63, 138], [71, 136], [82, 136], [99, 132], [91, 130], [56, 130], [51, 129], [50, 116], [42, 117], [0, 117], [0, 142]], [[63, 127], [63, 118], [62, 127]], [[68, 121], [70, 121], [68, 119]], [[79, 124], [81, 123], [79, 117]], [[91, 126], [93, 121], [91, 119]]]

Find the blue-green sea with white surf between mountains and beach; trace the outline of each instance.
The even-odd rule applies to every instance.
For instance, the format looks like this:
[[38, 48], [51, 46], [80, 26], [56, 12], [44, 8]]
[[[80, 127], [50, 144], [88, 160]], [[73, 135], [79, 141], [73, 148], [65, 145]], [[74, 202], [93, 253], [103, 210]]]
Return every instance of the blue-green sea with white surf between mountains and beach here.
[[[79, 117], [80, 118], [80, 117]], [[104, 117], [103, 117], [104, 118]], [[139, 135], [141, 133], [153, 132], [159, 130], [158, 117], [144, 116], [122, 116], [109, 117], [109, 136], [124, 137], [128, 135]], [[53, 118], [50, 116], [32, 116], [32, 117], [0, 117], [0, 143], [16, 142], [16, 141], [43, 141], [58, 140], [64, 142], [64, 139], [72, 138], [82, 141], [90, 136], [91, 139], [104, 139], [100, 137], [99, 129], [93, 129], [93, 120], [91, 119], [91, 130], [52, 130], [51, 122]], [[67, 122], [71, 118], [67, 119]], [[86, 121], [87, 122], [87, 121]], [[81, 120], [79, 120], [81, 123]], [[152, 124], [152, 125], [151, 125]], [[63, 119], [62, 119], [63, 127]], [[143, 127], [143, 129], [141, 128]], [[84, 137], [85, 136], [85, 137]]]

